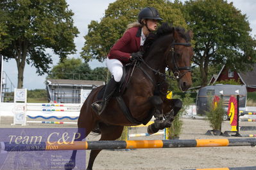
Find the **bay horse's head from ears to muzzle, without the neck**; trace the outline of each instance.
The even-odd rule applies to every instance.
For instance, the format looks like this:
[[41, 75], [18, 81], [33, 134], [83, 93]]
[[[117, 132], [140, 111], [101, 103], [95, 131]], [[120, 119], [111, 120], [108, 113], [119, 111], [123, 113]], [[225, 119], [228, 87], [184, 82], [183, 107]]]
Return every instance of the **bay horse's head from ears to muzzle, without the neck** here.
[[178, 87], [182, 91], [187, 91], [192, 85], [192, 31], [185, 32], [183, 28], [173, 27], [172, 35], [172, 42], [169, 45], [169, 49], [167, 49], [166, 65], [173, 72], [173, 75], [178, 81]]

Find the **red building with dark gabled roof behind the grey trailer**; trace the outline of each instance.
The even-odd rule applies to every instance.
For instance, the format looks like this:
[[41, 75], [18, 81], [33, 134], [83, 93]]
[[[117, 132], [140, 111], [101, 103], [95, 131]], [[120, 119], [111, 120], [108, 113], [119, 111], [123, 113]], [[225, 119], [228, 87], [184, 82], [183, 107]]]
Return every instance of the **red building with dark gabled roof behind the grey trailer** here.
[[256, 64], [253, 66], [253, 70], [249, 72], [235, 72], [226, 68], [224, 65], [218, 75], [213, 75], [210, 79], [209, 85], [214, 84], [217, 81], [225, 81], [234, 79], [246, 86], [248, 92], [256, 91]]

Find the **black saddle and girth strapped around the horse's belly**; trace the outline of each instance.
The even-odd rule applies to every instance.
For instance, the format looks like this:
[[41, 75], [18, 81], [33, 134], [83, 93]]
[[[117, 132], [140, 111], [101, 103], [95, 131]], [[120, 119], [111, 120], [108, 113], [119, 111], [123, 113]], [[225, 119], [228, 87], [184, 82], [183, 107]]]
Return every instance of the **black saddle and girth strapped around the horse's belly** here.
[[[117, 89], [115, 90], [114, 94], [112, 95], [112, 98], [115, 98], [117, 100], [117, 103], [119, 104], [119, 107], [121, 108], [121, 110], [124, 113], [124, 116], [126, 116], [126, 118], [131, 122], [131, 123], [135, 123], [137, 125], [146, 125], [152, 118], [153, 116], [153, 112], [155, 112], [155, 109], [151, 109], [149, 111], [148, 114], [148, 118], [146, 118], [143, 121], [139, 121], [135, 118], [133, 118], [130, 109], [127, 107], [127, 105], [125, 104], [122, 95], [124, 94], [124, 92], [126, 91], [128, 84], [130, 82], [130, 78], [132, 76], [132, 70], [133, 70], [133, 66], [134, 65], [125, 65], [123, 66], [123, 76], [121, 78], [121, 81], [117, 87]], [[99, 91], [98, 95], [97, 95], [97, 99], [98, 100], [103, 100], [103, 94], [105, 92], [107, 85], [104, 85], [103, 88], [101, 88], [101, 90]]]

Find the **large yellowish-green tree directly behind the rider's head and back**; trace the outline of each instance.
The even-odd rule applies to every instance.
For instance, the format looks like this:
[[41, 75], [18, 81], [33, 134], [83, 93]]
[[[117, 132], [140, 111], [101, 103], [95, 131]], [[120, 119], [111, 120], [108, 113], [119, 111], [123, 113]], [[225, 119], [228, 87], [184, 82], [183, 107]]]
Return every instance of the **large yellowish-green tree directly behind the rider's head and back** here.
[[84, 36], [85, 45], [81, 56], [86, 61], [91, 59], [103, 61], [112, 45], [123, 35], [126, 26], [137, 21], [139, 11], [146, 6], [157, 8], [164, 21], [173, 22], [175, 26], [186, 27], [182, 12], [173, 7], [173, 3], [169, 1], [117, 0], [109, 4], [105, 17], [100, 22], [95, 20], [90, 22], [88, 34]]

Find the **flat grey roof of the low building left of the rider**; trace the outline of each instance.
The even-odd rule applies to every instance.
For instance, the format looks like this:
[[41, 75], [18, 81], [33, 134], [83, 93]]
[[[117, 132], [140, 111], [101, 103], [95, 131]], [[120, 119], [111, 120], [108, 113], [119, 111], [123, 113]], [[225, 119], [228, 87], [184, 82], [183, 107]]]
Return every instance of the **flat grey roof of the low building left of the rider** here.
[[69, 80], [69, 79], [47, 79], [47, 82], [51, 85], [76, 85], [76, 86], [101, 86], [104, 85], [104, 81], [83, 81], [83, 80]]

